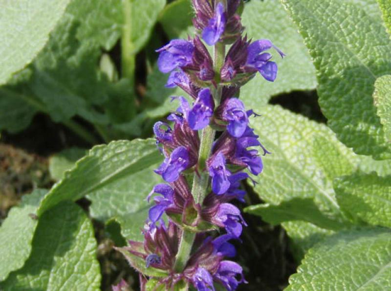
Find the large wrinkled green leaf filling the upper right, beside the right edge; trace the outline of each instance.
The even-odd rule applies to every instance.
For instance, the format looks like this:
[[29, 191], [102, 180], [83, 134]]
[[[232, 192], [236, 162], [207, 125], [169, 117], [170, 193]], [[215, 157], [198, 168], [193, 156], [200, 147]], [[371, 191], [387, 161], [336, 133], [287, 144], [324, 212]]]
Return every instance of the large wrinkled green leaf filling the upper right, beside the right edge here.
[[[358, 154], [391, 157], [373, 106], [373, 84], [390, 72], [391, 41], [359, 5], [282, 0], [310, 50], [328, 125]], [[373, 33], [376, 31], [376, 33]]]

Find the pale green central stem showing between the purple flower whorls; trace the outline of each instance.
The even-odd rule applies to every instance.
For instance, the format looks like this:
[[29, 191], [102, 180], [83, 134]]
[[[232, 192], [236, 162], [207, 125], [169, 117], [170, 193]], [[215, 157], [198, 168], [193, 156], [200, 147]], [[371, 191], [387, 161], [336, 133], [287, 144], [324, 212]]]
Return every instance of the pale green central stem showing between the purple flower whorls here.
[[[226, 7], [226, 0], [220, 1], [223, 2]], [[214, 50], [214, 70], [216, 73], [215, 80], [218, 84], [220, 82], [220, 68], [223, 66], [225, 60], [225, 45], [222, 43], [216, 43]], [[214, 90], [213, 99], [215, 100], [216, 107], [218, 104], [220, 104], [221, 92], [221, 86], [217, 86], [216, 90]], [[201, 143], [198, 153], [198, 172], [194, 174], [192, 187], [192, 195], [194, 197], [195, 203], [202, 204], [207, 194], [209, 173], [206, 171], [206, 160], [211, 155], [215, 134], [216, 131], [211, 126], [207, 126], [202, 130]], [[194, 240], [195, 232], [183, 229], [174, 265], [176, 272], [181, 272], [186, 267]]]

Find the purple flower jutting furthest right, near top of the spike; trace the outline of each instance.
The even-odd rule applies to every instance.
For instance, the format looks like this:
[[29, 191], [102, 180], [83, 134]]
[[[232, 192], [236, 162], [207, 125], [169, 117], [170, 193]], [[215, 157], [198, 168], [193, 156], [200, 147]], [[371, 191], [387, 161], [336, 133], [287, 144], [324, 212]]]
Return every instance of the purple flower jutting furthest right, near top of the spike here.
[[258, 40], [251, 43], [247, 49], [247, 62], [248, 67], [256, 68], [263, 78], [267, 81], [273, 82], [277, 77], [277, 64], [270, 61], [272, 55], [264, 52], [270, 48], [274, 48], [281, 57], [284, 57], [284, 53], [269, 40]]

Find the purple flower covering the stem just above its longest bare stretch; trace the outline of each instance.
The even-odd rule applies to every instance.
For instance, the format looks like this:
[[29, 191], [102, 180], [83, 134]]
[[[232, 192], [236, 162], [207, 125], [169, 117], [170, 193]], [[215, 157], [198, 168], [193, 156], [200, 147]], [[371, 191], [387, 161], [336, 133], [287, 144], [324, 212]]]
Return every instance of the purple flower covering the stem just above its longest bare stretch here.
[[200, 130], [208, 126], [209, 119], [213, 115], [215, 103], [211, 91], [206, 88], [198, 93], [193, 108], [188, 113], [188, 122], [193, 130]]

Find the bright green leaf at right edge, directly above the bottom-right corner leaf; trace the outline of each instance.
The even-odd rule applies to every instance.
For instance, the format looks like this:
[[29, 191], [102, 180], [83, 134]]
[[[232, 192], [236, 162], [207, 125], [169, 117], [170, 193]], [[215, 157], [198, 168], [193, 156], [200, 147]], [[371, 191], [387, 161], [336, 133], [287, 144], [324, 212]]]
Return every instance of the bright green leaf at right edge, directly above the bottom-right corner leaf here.
[[354, 220], [391, 227], [391, 176], [355, 173], [334, 181], [341, 208]]

